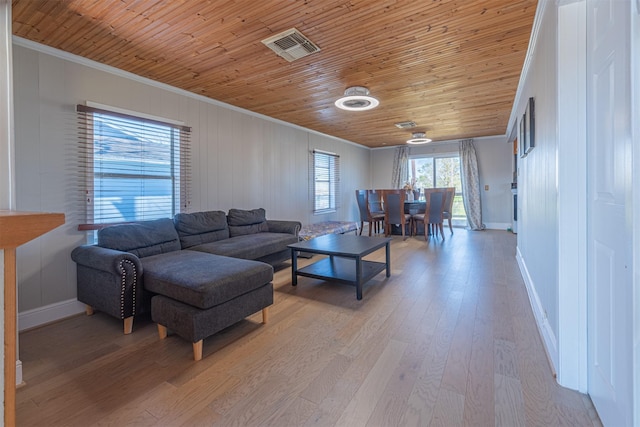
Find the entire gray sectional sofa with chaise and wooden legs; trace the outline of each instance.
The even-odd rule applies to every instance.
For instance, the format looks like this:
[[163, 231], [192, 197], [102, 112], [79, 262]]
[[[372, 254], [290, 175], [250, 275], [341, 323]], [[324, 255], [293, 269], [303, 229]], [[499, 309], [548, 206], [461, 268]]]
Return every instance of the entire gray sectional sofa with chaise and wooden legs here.
[[[159, 324], [194, 343], [273, 303], [273, 266], [290, 257], [297, 221], [264, 209], [177, 214], [105, 227], [95, 245], [75, 248], [78, 300], [124, 320], [151, 310]], [[199, 341], [199, 343], [198, 343]]]

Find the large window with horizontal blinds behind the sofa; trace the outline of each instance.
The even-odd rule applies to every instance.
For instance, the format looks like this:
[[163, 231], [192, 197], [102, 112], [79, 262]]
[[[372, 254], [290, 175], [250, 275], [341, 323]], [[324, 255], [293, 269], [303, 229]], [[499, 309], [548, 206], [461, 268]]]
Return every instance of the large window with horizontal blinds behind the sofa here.
[[85, 105], [76, 111], [87, 223], [80, 229], [187, 210], [190, 128]]

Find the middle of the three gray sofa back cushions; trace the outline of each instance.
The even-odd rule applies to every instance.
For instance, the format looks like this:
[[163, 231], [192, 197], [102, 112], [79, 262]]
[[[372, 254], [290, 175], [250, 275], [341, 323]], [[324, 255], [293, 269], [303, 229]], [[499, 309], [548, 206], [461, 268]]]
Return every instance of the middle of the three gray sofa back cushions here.
[[229, 238], [227, 215], [223, 211], [179, 213], [173, 223], [183, 249]]

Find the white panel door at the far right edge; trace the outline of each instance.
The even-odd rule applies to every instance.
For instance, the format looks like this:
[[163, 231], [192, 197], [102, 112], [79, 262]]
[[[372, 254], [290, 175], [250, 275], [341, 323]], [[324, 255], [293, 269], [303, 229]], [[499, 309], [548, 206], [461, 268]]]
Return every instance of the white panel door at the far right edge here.
[[630, 4], [587, 6], [588, 389], [605, 426], [632, 425]]

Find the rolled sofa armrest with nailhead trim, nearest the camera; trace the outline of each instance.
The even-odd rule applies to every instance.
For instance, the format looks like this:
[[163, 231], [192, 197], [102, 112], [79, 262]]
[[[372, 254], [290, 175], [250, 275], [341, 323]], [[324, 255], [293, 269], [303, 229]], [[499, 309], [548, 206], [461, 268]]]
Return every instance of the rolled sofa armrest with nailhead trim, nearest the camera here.
[[77, 297], [119, 319], [138, 313], [143, 301], [142, 263], [132, 253], [83, 245], [71, 251], [77, 266]]

